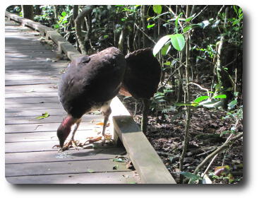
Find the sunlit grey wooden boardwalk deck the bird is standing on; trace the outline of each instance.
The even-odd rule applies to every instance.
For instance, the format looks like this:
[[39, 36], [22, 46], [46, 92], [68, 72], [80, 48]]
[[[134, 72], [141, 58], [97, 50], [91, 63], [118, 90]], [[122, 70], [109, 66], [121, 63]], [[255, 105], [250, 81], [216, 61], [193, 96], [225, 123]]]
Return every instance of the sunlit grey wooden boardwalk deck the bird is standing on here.
[[[36, 31], [10, 20], [5, 28], [6, 180], [15, 184], [139, 182], [125, 163], [113, 161], [125, 151], [123, 147], [64, 153], [52, 148], [59, 143], [56, 129], [66, 114], [59, 104], [57, 83], [68, 61], [56, 60], [56, 52], [40, 42]], [[50, 116], [36, 119], [45, 112]], [[102, 129], [96, 124], [102, 120], [101, 114], [85, 115], [76, 138], [95, 136]]]

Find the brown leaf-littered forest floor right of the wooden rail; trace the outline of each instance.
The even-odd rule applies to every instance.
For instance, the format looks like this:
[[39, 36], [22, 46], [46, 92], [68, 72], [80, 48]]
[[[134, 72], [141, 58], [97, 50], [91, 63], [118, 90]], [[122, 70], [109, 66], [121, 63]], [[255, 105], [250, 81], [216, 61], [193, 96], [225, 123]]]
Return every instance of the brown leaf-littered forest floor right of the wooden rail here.
[[[119, 95], [119, 98], [124, 102], [135, 122], [140, 125], [142, 116], [140, 100], [137, 100], [137, 106], [135, 106], [136, 100], [134, 98], [125, 98], [122, 95]], [[183, 148], [185, 132], [185, 112], [179, 114], [181, 109], [166, 114], [150, 113], [148, 129], [145, 134], [176, 182], [179, 182], [179, 156]], [[176, 114], [179, 116], [175, 117]], [[192, 111], [189, 143], [183, 165], [184, 172], [193, 172], [207, 155], [226, 141], [231, 127], [235, 127], [236, 124], [235, 119], [224, 119], [226, 116], [227, 112], [218, 109], [203, 107]], [[239, 122], [236, 126], [236, 132], [242, 131], [243, 125], [242, 122]], [[207, 165], [208, 163], [203, 167], [202, 172], [205, 171]], [[218, 171], [215, 173], [215, 170]], [[243, 139], [235, 141], [230, 148], [219, 153], [207, 175], [215, 184], [241, 182], [243, 178]]]

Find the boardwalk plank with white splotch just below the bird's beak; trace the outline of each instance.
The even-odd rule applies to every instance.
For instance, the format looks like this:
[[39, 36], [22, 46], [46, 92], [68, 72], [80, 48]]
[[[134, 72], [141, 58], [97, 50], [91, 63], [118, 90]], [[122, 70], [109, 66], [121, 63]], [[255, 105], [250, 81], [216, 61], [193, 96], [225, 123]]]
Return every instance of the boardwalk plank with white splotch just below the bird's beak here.
[[56, 151], [46, 152], [6, 153], [6, 164], [112, 159], [124, 152], [124, 148], [111, 147], [96, 149], [80, 148], [79, 151], [69, 149], [65, 152], [58, 152], [56, 149]]

